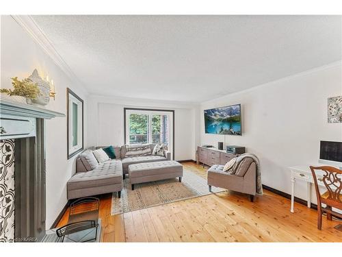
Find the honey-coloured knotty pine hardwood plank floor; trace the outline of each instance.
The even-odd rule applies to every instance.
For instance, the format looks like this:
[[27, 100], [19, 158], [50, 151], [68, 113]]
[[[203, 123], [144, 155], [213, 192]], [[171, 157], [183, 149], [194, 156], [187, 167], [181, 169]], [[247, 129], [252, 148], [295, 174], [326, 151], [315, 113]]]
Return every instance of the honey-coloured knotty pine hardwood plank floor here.
[[[205, 176], [206, 169], [183, 163]], [[103, 242], [342, 242], [334, 229], [341, 221], [323, 219], [317, 210], [269, 191], [255, 197], [224, 192], [111, 216], [111, 195], [102, 195], [99, 217]], [[65, 225], [68, 210], [58, 226]]]

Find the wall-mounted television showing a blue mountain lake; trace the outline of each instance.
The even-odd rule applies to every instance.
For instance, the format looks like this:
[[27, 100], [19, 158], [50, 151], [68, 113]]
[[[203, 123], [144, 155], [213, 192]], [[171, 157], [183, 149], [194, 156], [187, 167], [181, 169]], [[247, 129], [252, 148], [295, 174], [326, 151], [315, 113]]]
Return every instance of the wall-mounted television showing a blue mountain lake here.
[[205, 133], [241, 136], [241, 104], [205, 110]]

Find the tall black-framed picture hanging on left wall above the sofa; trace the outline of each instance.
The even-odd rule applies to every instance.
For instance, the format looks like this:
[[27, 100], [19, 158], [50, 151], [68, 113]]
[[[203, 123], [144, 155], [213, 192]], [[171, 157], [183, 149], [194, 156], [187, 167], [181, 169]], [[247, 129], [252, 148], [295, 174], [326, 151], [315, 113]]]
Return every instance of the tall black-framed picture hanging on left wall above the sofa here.
[[68, 159], [83, 150], [83, 100], [66, 88]]

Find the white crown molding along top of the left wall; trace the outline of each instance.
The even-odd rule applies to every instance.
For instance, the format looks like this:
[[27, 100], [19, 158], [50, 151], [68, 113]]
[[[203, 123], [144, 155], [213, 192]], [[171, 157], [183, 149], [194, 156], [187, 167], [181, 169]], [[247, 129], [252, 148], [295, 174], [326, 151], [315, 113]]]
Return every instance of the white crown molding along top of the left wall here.
[[[57, 52], [55, 47], [53, 47], [51, 41], [47, 36], [45, 36], [44, 32], [42, 32], [42, 29], [38, 26], [36, 21], [29, 16], [29, 15], [11, 15], [14, 21], [20, 25], [33, 40], [42, 47], [45, 53], [57, 64], [57, 66], [62, 69], [62, 71], [77, 85], [81, 86], [81, 88], [84, 88], [82, 86], [81, 81], [79, 78], [73, 73], [73, 71], [70, 69], [70, 66], [64, 61], [62, 56], [60, 56], [60, 53]], [[84, 88], [85, 89], [85, 88]], [[85, 89], [86, 90], [86, 89]]]

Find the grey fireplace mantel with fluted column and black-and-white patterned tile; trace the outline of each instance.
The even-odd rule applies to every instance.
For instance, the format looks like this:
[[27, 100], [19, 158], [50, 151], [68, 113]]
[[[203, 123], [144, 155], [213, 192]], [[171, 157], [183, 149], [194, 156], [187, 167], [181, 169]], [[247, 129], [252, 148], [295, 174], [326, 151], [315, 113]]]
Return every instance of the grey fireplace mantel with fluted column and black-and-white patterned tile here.
[[[0, 176], [2, 178], [0, 183], [3, 183], [3, 188], [6, 188], [5, 195], [7, 193], [14, 197], [9, 207], [13, 213], [11, 217], [14, 217], [14, 224], [12, 218], [5, 222], [7, 228], [14, 228], [14, 233], [12, 230], [12, 234], [6, 234], [5, 238], [1, 238], [0, 234], [0, 241], [36, 242], [44, 237], [47, 173], [45, 120], [55, 117], [65, 117], [65, 115], [13, 101], [10, 97], [0, 97], [0, 146], [2, 146], [0, 154], [1, 160], [5, 160], [1, 161], [1, 170], [8, 169], [10, 172], [12, 169], [12, 175], [6, 179], [3, 175]], [[7, 156], [10, 158], [6, 158]], [[7, 162], [8, 159], [11, 160], [10, 163]], [[8, 187], [10, 180], [14, 188]]]

